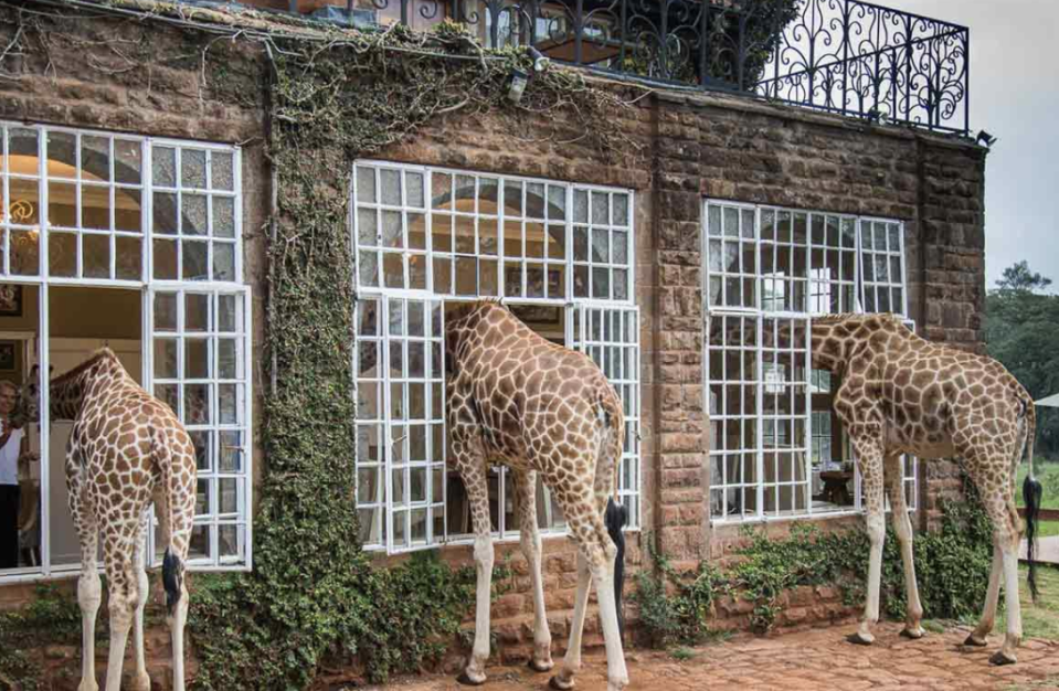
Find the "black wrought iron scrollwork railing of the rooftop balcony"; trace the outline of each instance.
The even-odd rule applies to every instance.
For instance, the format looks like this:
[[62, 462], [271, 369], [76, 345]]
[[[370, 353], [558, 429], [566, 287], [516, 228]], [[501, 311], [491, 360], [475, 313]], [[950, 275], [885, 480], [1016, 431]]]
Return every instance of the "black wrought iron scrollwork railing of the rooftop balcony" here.
[[361, 1], [383, 23], [451, 18], [489, 46], [649, 83], [970, 131], [967, 29], [860, 0]]

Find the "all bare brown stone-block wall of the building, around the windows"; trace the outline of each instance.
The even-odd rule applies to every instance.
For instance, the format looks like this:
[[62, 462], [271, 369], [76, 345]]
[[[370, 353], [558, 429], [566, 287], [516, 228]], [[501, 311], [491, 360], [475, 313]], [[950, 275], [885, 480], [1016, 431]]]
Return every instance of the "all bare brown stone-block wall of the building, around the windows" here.
[[[0, 9], [6, 19], [12, 12]], [[13, 26], [0, 22], [0, 41], [11, 40]], [[182, 30], [108, 19], [67, 24], [64, 30], [80, 32], [87, 43], [53, 40], [46, 60], [39, 54], [8, 59], [4, 68], [24, 68], [25, 76], [0, 81], [0, 117], [245, 142], [246, 266], [257, 296], [255, 323], [261, 329], [265, 267], [258, 228], [267, 215], [269, 194], [262, 151], [264, 56], [240, 42], [216, 42], [211, 54], [214, 64], [225, 70], [223, 76], [211, 74], [203, 87], [198, 78], [198, 49], [192, 57], [179, 57], [190, 54]], [[146, 40], [162, 46], [156, 54], [177, 57], [123, 70], [128, 65], [119, 55], [100, 53], [99, 60], [113, 63], [99, 71], [85, 61], [83, 45], [104, 35], [119, 36], [129, 45]], [[723, 556], [734, 539], [732, 529], [711, 529], [707, 511], [700, 277], [703, 198], [904, 221], [911, 313], [921, 332], [981, 349], [984, 152], [952, 139], [732, 96], [656, 92], [611, 117], [629, 141], [612, 152], [595, 148], [562, 117], [519, 111], [448, 115], [413, 140], [372, 158], [636, 190], [644, 530], [655, 534], [663, 551], [677, 562]], [[263, 363], [261, 358], [255, 361], [258, 366]], [[267, 381], [267, 370], [255, 381]], [[260, 433], [260, 424], [256, 427]], [[260, 471], [267, 459], [260, 449], [256, 458]], [[952, 467], [931, 464], [923, 479], [921, 522], [929, 524], [936, 518], [936, 497], [955, 487]], [[770, 525], [770, 530], [783, 527]], [[629, 538], [631, 572], [644, 565], [640, 541], [638, 534]], [[572, 608], [573, 545], [561, 538], [544, 544], [548, 605], [561, 649], [563, 623]], [[470, 559], [467, 546], [442, 552], [454, 562]], [[498, 552], [499, 560], [513, 553], [516, 577], [511, 592], [496, 605], [497, 630], [517, 651], [526, 640], [531, 613], [529, 580], [519, 571], [525, 562], [517, 545], [500, 545]], [[379, 561], [380, 566], [391, 562]], [[628, 582], [631, 586], [632, 574]], [[0, 588], [0, 593], [10, 592]]]

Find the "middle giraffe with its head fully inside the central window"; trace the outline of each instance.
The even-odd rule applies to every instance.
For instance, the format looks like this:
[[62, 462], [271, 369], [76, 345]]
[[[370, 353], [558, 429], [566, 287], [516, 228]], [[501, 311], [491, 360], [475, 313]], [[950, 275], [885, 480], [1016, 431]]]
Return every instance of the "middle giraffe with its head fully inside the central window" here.
[[[477, 571], [475, 641], [459, 680], [480, 684], [489, 657], [489, 591], [493, 574], [486, 459], [500, 459], [515, 475], [520, 501], [521, 549], [533, 588], [533, 656], [530, 667], [552, 669], [551, 634], [544, 615], [541, 540], [533, 501], [537, 474], [562, 507], [578, 543], [578, 591], [570, 642], [554, 689], [571, 689], [581, 669], [581, 636], [590, 581], [595, 585], [607, 660], [607, 689], [628, 683], [615, 598], [617, 549], [604, 510], [622, 456], [622, 402], [585, 354], [551, 343], [499, 302], [462, 306], [445, 329], [448, 430], [455, 469], [470, 503]], [[607, 511], [610, 522], [622, 520]]]

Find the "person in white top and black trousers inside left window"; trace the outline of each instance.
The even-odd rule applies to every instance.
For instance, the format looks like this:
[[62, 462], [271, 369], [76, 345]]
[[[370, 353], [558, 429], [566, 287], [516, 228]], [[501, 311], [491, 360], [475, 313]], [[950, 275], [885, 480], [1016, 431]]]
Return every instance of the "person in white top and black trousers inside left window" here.
[[19, 459], [33, 460], [21, 426], [11, 419], [19, 387], [0, 381], [0, 568], [19, 565]]

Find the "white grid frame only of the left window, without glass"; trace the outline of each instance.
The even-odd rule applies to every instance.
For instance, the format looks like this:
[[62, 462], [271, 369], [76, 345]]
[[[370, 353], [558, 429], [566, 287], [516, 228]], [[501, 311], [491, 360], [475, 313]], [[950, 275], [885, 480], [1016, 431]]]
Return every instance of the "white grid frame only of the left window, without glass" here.
[[[10, 163], [8, 160], [9, 153], [9, 132], [12, 129], [20, 130], [33, 130], [36, 132], [36, 173], [31, 176], [28, 173], [13, 174], [11, 173]], [[73, 177], [56, 177], [50, 174], [47, 170], [49, 159], [47, 159], [47, 136], [52, 132], [71, 135], [74, 137], [76, 151], [74, 159], [74, 176]], [[82, 173], [82, 139], [84, 137], [95, 137], [108, 140], [108, 151], [109, 151], [109, 180], [106, 182], [97, 182], [92, 180], [83, 179]], [[118, 161], [115, 156], [116, 141], [124, 142], [136, 142], [139, 146], [139, 156], [140, 156], [140, 179], [138, 183], [123, 183], [117, 181], [116, 170], [118, 167]], [[152, 152], [156, 148], [167, 147], [173, 148], [177, 151], [177, 169], [174, 174], [180, 174], [180, 151], [201, 151], [204, 156], [205, 161], [205, 189], [191, 189], [182, 188], [183, 192], [191, 193], [202, 193], [206, 195], [206, 231], [205, 235], [202, 236], [202, 240], [199, 242], [208, 242], [209, 249], [206, 253], [206, 267], [208, 270], [212, 273], [213, 270], [213, 247], [214, 243], [221, 242], [230, 244], [234, 251], [233, 257], [233, 277], [231, 280], [162, 280], [153, 278], [153, 240], [156, 236], [153, 228], [153, 214], [152, 214], [152, 198], [153, 192], [158, 189], [158, 185], [153, 182], [153, 167], [152, 167]], [[212, 176], [212, 166], [211, 158], [215, 152], [223, 152], [224, 155], [231, 156], [231, 190], [213, 190], [210, 188], [210, 177]], [[29, 153], [27, 153], [29, 155]], [[38, 363], [40, 364], [42, 372], [49, 371], [49, 352], [46, 344], [50, 338], [49, 329], [49, 288], [51, 286], [71, 286], [71, 287], [110, 287], [110, 288], [126, 288], [135, 289], [141, 293], [141, 316], [142, 316], [142, 330], [141, 330], [141, 349], [142, 349], [142, 369], [141, 369], [141, 382], [142, 386], [147, 391], [152, 391], [152, 357], [153, 357], [153, 347], [151, 339], [151, 322], [149, 320], [150, 309], [151, 309], [151, 296], [157, 290], [188, 290], [192, 293], [209, 293], [209, 291], [222, 291], [227, 294], [240, 294], [244, 300], [243, 317], [244, 323], [242, 325], [245, 329], [242, 334], [242, 366], [244, 368], [245, 374], [245, 397], [243, 401], [243, 414], [245, 415], [245, 448], [243, 449], [243, 472], [245, 476], [245, 488], [239, 495], [240, 497], [240, 515], [236, 521], [245, 525], [245, 538], [244, 538], [244, 555], [245, 560], [242, 562], [223, 562], [220, 559], [211, 559], [209, 562], [205, 560], [193, 560], [189, 563], [189, 568], [192, 571], [226, 571], [226, 572], [241, 572], [250, 571], [253, 567], [253, 380], [250, 375], [252, 372], [252, 351], [253, 351], [253, 330], [251, 323], [251, 311], [252, 311], [252, 299], [251, 299], [251, 289], [248, 286], [243, 285], [243, 233], [242, 233], [242, 202], [243, 202], [243, 190], [242, 190], [242, 148], [237, 145], [227, 145], [223, 142], [211, 142], [211, 141], [199, 141], [190, 139], [174, 139], [174, 138], [158, 138], [158, 137], [145, 137], [137, 135], [126, 135], [123, 132], [115, 132], [108, 130], [98, 130], [92, 128], [81, 128], [81, 127], [62, 127], [62, 126], [51, 126], [43, 124], [33, 124], [33, 123], [18, 123], [10, 120], [0, 120], [0, 196], [2, 196], [2, 204], [0, 204], [0, 244], [4, 249], [3, 252], [3, 263], [0, 265], [0, 283], [3, 284], [18, 284], [23, 285], [29, 289], [34, 289], [39, 291], [40, 295], [40, 312], [39, 321], [36, 326], [36, 339], [39, 343], [38, 352]], [[10, 204], [10, 180], [11, 179], [21, 179], [27, 181], [35, 182], [36, 184], [36, 222], [33, 224], [14, 224], [11, 223], [9, 216], [9, 204]], [[50, 273], [49, 264], [49, 233], [51, 221], [49, 219], [49, 187], [50, 183], [60, 183], [73, 185], [75, 190], [75, 205], [78, 210], [76, 214], [76, 223], [72, 226], [61, 226], [61, 231], [56, 232], [66, 232], [70, 234], [75, 234], [76, 237], [76, 262], [75, 262], [75, 275], [74, 276], [53, 276]], [[83, 216], [80, 213], [82, 205], [82, 188], [91, 185], [97, 188], [106, 187], [109, 192], [109, 214], [110, 214], [110, 228], [107, 231], [103, 230], [93, 230], [83, 227]], [[140, 192], [140, 231], [120, 231], [117, 230], [116, 224], [116, 205], [115, 199], [121, 189], [137, 189]], [[172, 190], [166, 190], [172, 191]], [[213, 199], [214, 198], [226, 198], [232, 200], [232, 223], [233, 223], [233, 236], [223, 237], [221, 240], [215, 240], [212, 235], [212, 224], [213, 224]], [[179, 215], [178, 210], [178, 223], [181, 216]], [[35, 232], [38, 233], [38, 266], [35, 274], [14, 274], [10, 272], [10, 259], [11, 253], [9, 252], [8, 237], [10, 230], [20, 230], [24, 232]], [[109, 277], [92, 277], [84, 275], [84, 252], [82, 249], [83, 238], [86, 236], [107, 236], [110, 238], [109, 247]], [[140, 245], [140, 275], [138, 279], [133, 278], [118, 278], [117, 277], [117, 238], [118, 237], [139, 237], [141, 238]], [[182, 235], [166, 235], [165, 237], [169, 238], [181, 238]], [[183, 242], [182, 240], [178, 240]], [[180, 266], [179, 255], [178, 255], [178, 267]], [[178, 274], [179, 275], [179, 274]], [[211, 274], [212, 275], [212, 274]], [[41, 429], [47, 429], [49, 426], [49, 405], [47, 405], [49, 387], [42, 386], [41, 392]], [[78, 564], [53, 564], [52, 554], [51, 554], [51, 512], [53, 510], [65, 510], [60, 507], [53, 507], [50, 497], [50, 489], [52, 482], [63, 482], [62, 477], [51, 477], [53, 474], [50, 471], [49, 463], [49, 436], [47, 434], [41, 434], [40, 437], [40, 447], [41, 447], [41, 465], [40, 465], [40, 504], [41, 504], [41, 520], [40, 520], [40, 552], [41, 552], [41, 565], [39, 567], [32, 568], [18, 568], [11, 570], [3, 574], [0, 574], [0, 585], [9, 583], [27, 583], [27, 582], [38, 582], [38, 581], [47, 581], [54, 578], [63, 578], [76, 575], [80, 572]], [[202, 522], [203, 519], [197, 519], [197, 522]], [[212, 524], [216, 523], [215, 513], [212, 517], [208, 517], [204, 520], [212, 521]], [[153, 518], [153, 509], [151, 509], [150, 515], [151, 525], [156, 524], [157, 521]], [[148, 531], [148, 545], [147, 545], [148, 555], [151, 555], [151, 563], [157, 564], [158, 560], [153, 551], [153, 531]], [[211, 551], [213, 556], [216, 557], [218, 544], [211, 541]]]

